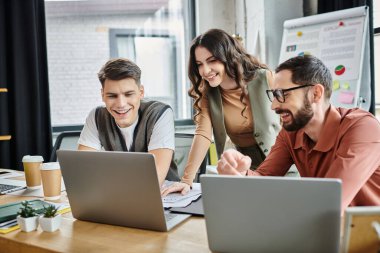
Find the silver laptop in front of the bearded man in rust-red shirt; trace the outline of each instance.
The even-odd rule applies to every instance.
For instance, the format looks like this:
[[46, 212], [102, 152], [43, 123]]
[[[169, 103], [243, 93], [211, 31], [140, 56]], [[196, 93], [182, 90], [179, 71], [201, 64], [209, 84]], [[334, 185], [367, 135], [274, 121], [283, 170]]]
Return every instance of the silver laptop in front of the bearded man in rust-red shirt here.
[[217, 252], [339, 252], [338, 179], [201, 176]]

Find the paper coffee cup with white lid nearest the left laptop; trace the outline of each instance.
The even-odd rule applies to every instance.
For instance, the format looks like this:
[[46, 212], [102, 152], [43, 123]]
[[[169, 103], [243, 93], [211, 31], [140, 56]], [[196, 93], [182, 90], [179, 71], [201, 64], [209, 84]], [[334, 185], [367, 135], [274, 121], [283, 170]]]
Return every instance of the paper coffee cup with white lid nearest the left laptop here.
[[61, 167], [58, 162], [41, 165], [42, 188], [45, 200], [61, 198]]

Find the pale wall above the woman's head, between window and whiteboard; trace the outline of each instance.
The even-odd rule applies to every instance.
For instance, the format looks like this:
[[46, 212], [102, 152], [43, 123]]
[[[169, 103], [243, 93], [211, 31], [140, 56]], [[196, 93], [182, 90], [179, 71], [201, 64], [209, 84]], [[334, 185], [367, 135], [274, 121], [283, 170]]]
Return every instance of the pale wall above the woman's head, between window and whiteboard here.
[[210, 28], [238, 33], [251, 54], [275, 68], [283, 22], [303, 17], [303, 0], [198, 0], [197, 34]]

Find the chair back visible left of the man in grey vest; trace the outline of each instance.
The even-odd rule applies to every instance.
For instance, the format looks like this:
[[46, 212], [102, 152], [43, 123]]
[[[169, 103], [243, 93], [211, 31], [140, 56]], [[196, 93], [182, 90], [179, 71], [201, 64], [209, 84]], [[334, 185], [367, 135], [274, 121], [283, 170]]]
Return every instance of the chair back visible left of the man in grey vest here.
[[81, 131], [65, 131], [58, 135], [53, 150], [50, 155], [50, 162], [57, 161], [57, 150], [59, 149], [78, 149], [78, 139]]

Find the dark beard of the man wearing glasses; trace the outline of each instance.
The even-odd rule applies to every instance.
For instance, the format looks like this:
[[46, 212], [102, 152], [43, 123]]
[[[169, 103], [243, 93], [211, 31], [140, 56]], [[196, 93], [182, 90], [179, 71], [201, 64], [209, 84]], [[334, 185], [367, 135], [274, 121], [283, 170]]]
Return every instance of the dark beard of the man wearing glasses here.
[[296, 112], [295, 116], [293, 116], [293, 114], [289, 110], [276, 110], [277, 114], [283, 112], [289, 113], [293, 118], [293, 121], [290, 124], [282, 125], [282, 127], [289, 132], [300, 130], [301, 128], [306, 126], [306, 124], [309, 123], [311, 118], [314, 116], [314, 112], [311, 109], [311, 103], [309, 102], [307, 96], [305, 96], [304, 98], [304, 106]]

